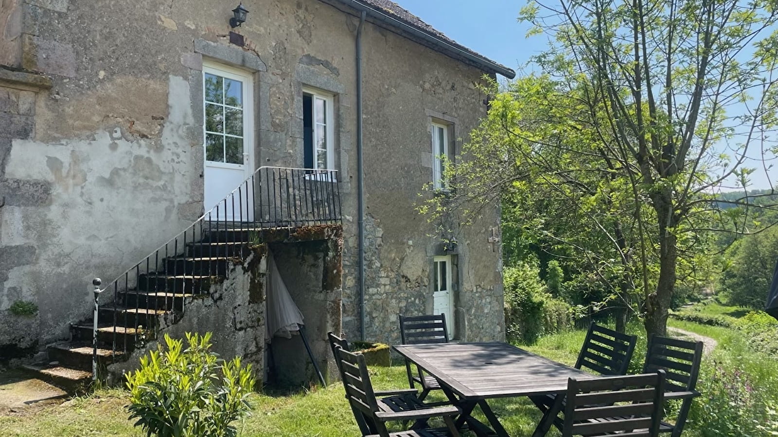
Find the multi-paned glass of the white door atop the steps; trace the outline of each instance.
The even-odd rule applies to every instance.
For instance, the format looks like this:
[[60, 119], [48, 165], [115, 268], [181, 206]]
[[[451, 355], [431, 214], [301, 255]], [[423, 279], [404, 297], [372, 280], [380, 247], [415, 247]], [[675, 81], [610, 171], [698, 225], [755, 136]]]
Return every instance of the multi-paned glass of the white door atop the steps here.
[[244, 163], [243, 83], [205, 73], [205, 159]]

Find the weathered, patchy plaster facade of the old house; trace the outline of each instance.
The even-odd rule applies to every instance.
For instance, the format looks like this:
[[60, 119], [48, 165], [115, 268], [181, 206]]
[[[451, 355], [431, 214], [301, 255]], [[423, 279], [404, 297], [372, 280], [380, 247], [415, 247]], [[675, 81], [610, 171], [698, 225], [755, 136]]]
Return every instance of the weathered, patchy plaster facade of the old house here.
[[[358, 336], [356, 16], [318, 0], [247, 0], [249, 18], [236, 29], [246, 39], [240, 48], [226, 40], [234, 5], [223, 2], [5, 0], [2, 11], [7, 5], [21, 9], [19, 66], [50, 75], [53, 87], [38, 94], [34, 127], [13, 136], [5, 160], [7, 184], [16, 185], [4, 194], [19, 205], [0, 208], [0, 252], [19, 254], [0, 266], [9, 276], [0, 284], [0, 311], [7, 296], [21, 295], [40, 306], [39, 332], [31, 335], [63, 337], [67, 323], [89, 311], [93, 276], [114, 278], [197, 218], [202, 60], [210, 58], [255, 73], [256, 166], [302, 166], [302, 88], [336, 95], [347, 236], [343, 330]], [[429, 121], [453, 122], [459, 149], [458, 138], [485, 114], [486, 96], [473, 86], [477, 68], [372, 23], [363, 44], [372, 236], [366, 332], [396, 341], [397, 313], [432, 310], [430, 267], [440, 243], [413, 209], [432, 180]], [[487, 243], [496, 225], [495, 211], [454, 231], [467, 340], [504, 336], [499, 250]]]

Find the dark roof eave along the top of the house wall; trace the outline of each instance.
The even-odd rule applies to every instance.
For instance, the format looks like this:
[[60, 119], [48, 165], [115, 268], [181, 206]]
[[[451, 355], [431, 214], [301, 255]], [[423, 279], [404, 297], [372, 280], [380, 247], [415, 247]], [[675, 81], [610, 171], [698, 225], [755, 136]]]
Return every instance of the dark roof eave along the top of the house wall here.
[[[326, 0], [325, 0], [326, 1]], [[440, 37], [432, 33], [425, 32], [415, 26], [411, 26], [393, 16], [382, 12], [380, 9], [376, 9], [372, 5], [367, 5], [359, 0], [335, 0], [343, 5], [347, 5], [358, 11], [366, 12], [367, 16], [380, 21], [381, 23], [391, 26], [394, 29], [399, 30], [405, 37], [408, 37], [416, 42], [427, 45], [442, 54], [446, 54], [450, 58], [457, 59], [457, 61], [464, 61], [469, 65], [481, 68], [485, 72], [496, 73], [503, 75], [508, 79], [516, 77], [516, 72], [507, 68], [505, 65], [500, 65], [489, 58], [473, 54], [469, 51], [464, 51], [460, 47], [450, 44], [445, 40], [441, 40]], [[426, 44], [425, 44], [426, 43]]]

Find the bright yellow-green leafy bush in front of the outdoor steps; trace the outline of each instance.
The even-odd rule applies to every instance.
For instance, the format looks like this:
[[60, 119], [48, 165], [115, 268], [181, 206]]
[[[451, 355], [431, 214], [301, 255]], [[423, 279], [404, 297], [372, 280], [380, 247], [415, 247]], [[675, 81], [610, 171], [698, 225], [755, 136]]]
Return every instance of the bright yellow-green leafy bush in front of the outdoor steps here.
[[251, 411], [251, 365], [217, 358], [210, 340], [211, 333], [187, 333], [184, 349], [184, 341], [165, 334], [166, 350], [160, 345], [141, 358], [140, 369], [126, 376], [135, 426], [158, 437], [237, 435], [230, 424]]

